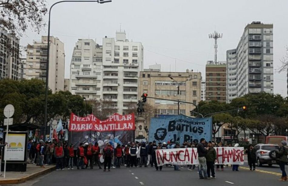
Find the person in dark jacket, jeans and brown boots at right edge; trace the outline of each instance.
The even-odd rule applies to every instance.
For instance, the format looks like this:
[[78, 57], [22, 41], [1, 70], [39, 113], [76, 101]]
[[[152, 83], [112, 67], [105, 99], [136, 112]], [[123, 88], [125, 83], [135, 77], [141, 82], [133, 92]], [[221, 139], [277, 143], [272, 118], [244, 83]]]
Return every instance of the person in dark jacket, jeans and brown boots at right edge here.
[[282, 176], [279, 181], [287, 181], [287, 174], [285, 171], [285, 164], [287, 164], [287, 155], [288, 155], [288, 147], [286, 141], [281, 141], [280, 143], [280, 149], [276, 150], [276, 153], [280, 156], [279, 157], [279, 166], [280, 170], [282, 171]]

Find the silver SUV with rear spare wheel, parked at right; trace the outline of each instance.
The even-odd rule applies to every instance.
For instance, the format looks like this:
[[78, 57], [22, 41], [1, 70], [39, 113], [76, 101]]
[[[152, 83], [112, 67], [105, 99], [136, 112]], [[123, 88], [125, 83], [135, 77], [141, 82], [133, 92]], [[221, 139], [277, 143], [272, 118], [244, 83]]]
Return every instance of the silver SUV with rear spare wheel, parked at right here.
[[263, 164], [268, 164], [271, 167], [273, 164], [278, 164], [277, 160], [270, 158], [269, 153], [271, 150], [276, 150], [279, 145], [274, 144], [257, 144], [254, 146], [256, 150], [257, 166], [261, 167]]

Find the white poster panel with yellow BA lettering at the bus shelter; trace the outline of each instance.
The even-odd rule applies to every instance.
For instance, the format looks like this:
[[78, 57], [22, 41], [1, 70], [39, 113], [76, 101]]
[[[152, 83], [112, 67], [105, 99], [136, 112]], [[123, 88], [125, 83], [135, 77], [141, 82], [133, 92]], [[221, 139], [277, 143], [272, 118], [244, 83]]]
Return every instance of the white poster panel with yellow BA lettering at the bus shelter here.
[[[25, 161], [25, 140], [26, 134], [8, 133], [7, 161]], [[5, 141], [7, 141], [7, 136]]]

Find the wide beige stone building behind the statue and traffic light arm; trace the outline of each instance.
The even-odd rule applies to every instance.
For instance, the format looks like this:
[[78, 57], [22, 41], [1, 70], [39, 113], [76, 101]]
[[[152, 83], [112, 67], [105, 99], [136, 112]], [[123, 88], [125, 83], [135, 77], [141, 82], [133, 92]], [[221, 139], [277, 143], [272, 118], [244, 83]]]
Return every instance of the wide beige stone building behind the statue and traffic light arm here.
[[[180, 83], [180, 94], [178, 95], [177, 83], [169, 78], [171, 76]], [[169, 99], [181, 100], [194, 104], [198, 104], [201, 100], [201, 73], [186, 70], [186, 72], [153, 72], [144, 71], [140, 73], [139, 77], [138, 95], [148, 93], [148, 96]], [[141, 99], [141, 98], [139, 98]], [[167, 100], [147, 99], [150, 105], [156, 107], [156, 115], [177, 115], [178, 103]], [[180, 104], [180, 113], [190, 116], [190, 110], [193, 110], [193, 104]]]

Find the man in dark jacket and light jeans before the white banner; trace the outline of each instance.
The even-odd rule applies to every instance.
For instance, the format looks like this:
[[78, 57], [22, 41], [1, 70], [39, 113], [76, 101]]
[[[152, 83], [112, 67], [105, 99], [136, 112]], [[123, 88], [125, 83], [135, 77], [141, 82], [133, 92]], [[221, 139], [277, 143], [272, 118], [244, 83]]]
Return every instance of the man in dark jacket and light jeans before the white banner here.
[[[205, 144], [205, 139], [201, 138], [200, 139], [200, 143], [197, 145], [197, 152], [198, 152], [198, 161], [199, 161], [199, 167], [198, 167], [198, 171], [199, 171], [199, 178], [200, 179], [210, 179], [208, 178], [207, 175], [207, 165], [206, 165], [206, 154], [208, 152], [209, 147], [204, 147]], [[204, 177], [203, 177], [203, 174]]]

